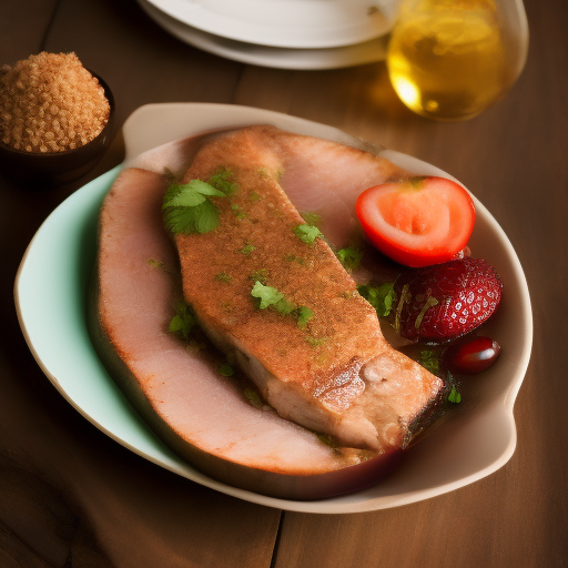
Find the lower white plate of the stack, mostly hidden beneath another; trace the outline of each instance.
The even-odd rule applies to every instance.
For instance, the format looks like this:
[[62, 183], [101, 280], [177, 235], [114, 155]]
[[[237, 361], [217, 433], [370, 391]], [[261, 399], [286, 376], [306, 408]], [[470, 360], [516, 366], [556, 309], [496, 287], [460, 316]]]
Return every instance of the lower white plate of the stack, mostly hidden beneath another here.
[[275, 69], [339, 69], [375, 63], [386, 58], [388, 36], [353, 45], [327, 49], [286, 49], [235, 41], [192, 28], [158, 10], [149, 0], [139, 4], [160, 27], [195, 48], [241, 63]]

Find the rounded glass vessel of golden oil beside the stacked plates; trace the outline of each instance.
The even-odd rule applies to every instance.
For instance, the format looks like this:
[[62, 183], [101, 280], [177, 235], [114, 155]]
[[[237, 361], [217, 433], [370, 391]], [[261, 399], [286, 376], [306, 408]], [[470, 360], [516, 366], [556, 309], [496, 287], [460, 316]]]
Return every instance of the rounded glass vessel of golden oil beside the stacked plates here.
[[493, 0], [403, 2], [387, 67], [398, 97], [416, 113], [446, 121], [475, 116], [509, 83]]

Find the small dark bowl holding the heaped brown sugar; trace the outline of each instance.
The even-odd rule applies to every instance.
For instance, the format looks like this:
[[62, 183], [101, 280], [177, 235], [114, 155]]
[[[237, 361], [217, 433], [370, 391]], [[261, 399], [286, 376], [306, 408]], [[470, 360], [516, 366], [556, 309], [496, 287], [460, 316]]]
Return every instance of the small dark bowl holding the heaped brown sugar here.
[[97, 73], [92, 75], [104, 89], [110, 104], [109, 122], [101, 133], [88, 144], [64, 152], [26, 152], [0, 142], [0, 175], [17, 185], [43, 190], [77, 180], [97, 164], [111, 143], [114, 97]]

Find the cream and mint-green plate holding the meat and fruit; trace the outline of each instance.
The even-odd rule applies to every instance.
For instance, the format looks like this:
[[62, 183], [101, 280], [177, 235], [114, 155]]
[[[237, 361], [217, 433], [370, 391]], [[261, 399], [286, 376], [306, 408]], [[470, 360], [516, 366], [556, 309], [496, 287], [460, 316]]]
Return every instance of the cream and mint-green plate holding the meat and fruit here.
[[[138, 109], [124, 124], [126, 161], [180, 138], [258, 123], [367, 146], [331, 126], [272, 111], [209, 103], [150, 104]], [[384, 151], [384, 155], [416, 173], [447, 175], [398, 152]], [[501, 344], [503, 353], [495, 366], [471, 381], [462, 405], [410, 448], [392, 475], [351, 495], [294, 501], [230, 487], [192, 468], [132, 410], [97, 357], [87, 331], [85, 295], [94, 265], [99, 207], [120, 169], [73, 193], [48, 217], [26, 252], [14, 290], [20, 324], [38, 363], [60, 393], [110, 437], [162, 467], [227, 495], [324, 514], [375, 510], [427, 499], [480, 479], [510, 458], [516, 445], [513, 406], [532, 342], [530, 300], [511, 244], [476, 200], [470, 246], [497, 267], [505, 286], [499, 312], [486, 328]]]

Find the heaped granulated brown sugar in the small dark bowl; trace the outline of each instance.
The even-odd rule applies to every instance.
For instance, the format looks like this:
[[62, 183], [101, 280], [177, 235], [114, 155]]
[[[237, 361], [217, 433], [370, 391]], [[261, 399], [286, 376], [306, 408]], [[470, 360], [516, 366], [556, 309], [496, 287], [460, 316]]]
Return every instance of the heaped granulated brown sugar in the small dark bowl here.
[[27, 152], [63, 152], [97, 138], [110, 115], [103, 88], [75, 53], [30, 55], [0, 68], [0, 140]]

